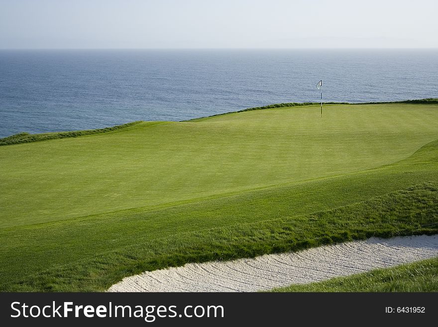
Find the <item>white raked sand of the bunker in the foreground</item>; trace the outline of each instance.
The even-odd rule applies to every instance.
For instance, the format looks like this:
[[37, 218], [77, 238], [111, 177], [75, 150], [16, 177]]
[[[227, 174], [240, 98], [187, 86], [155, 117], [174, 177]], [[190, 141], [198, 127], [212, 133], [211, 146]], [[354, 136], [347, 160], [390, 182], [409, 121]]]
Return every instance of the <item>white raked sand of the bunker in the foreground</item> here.
[[190, 263], [124, 278], [109, 292], [253, 292], [438, 256], [438, 235], [370, 238], [251, 259]]

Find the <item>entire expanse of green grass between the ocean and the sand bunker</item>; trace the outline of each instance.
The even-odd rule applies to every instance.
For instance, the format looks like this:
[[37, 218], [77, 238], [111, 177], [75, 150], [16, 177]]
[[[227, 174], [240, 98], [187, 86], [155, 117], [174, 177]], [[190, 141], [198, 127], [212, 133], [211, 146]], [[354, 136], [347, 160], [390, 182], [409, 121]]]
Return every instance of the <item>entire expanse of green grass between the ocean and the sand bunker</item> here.
[[438, 233], [438, 106], [141, 122], [0, 147], [0, 290], [103, 291], [187, 262]]

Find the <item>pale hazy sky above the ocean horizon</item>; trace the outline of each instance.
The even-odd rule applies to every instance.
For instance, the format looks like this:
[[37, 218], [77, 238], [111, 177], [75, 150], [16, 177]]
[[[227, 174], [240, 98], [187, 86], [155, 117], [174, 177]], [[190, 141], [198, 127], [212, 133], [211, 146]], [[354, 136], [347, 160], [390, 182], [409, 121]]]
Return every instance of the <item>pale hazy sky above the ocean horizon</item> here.
[[0, 0], [0, 48], [437, 48], [437, 12], [437, 0]]

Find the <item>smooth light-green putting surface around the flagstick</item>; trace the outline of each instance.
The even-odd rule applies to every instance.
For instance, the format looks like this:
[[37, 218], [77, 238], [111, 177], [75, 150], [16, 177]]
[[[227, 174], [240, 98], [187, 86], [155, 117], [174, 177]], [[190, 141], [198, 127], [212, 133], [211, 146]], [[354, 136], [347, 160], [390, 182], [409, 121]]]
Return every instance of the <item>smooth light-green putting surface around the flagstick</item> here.
[[437, 105], [255, 110], [0, 147], [0, 227], [344, 174], [438, 138]]

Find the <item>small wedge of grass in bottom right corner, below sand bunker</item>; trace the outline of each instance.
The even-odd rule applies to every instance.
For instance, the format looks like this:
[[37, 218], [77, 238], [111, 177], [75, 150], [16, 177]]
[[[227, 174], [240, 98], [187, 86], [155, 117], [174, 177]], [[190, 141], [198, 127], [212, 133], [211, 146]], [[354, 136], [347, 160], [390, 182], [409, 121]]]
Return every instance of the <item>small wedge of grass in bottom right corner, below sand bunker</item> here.
[[438, 292], [438, 258], [272, 292]]

